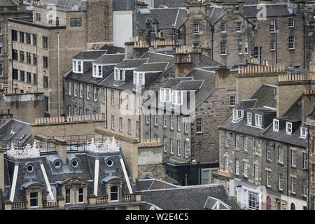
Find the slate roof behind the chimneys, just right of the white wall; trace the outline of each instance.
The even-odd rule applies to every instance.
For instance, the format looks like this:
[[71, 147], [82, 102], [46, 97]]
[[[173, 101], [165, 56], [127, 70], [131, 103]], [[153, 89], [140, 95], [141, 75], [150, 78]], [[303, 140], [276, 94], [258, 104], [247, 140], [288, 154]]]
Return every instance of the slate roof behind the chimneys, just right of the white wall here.
[[154, 8], [137, 10], [137, 29], [148, 29], [148, 21], [158, 21], [158, 29], [181, 28], [186, 22], [187, 12], [183, 8]]

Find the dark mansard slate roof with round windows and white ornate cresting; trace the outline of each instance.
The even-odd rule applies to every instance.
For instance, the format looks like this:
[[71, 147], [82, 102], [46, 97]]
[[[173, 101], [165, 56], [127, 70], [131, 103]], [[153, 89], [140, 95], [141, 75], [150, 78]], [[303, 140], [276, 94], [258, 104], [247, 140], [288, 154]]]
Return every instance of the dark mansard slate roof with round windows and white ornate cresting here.
[[[103, 153], [94, 155], [88, 151], [77, 151], [77, 152], [67, 152], [67, 163], [62, 164], [59, 169], [56, 169], [54, 166], [55, 161], [61, 161], [61, 158], [55, 153], [42, 154], [40, 158], [29, 158], [29, 159], [15, 159], [5, 157], [5, 189], [4, 189], [4, 198], [8, 200], [10, 198], [10, 189], [13, 187], [13, 170], [15, 165], [18, 165], [18, 178], [15, 187], [14, 201], [25, 201], [25, 191], [24, 188], [31, 184], [30, 182], [40, 183], [43, 185], [43, 200], [45, 200], [49, 193], [47, 190], [47, 186], [44, 179], [43, 170], [41, 169], [41, 165], [45, 170], [50, 186], [52, 186], [52, 191], [54, 193], [54, 197], [62, 196], [62, 186], [67, 179], [84, 179], [88, 182], [88, 195], [94, 194], [94, 165], [96, 158], [99, 158], [99, 181], [97, 187], [98, 195], [106, 195], [104, 192], [104, 183], [102, 183], [103, 179], [111, 179], [109, 176], [117, 176], [119, 179], [123, 179], [123, 189], [122, 193], [129, 194], [129, 190], [127, 188], [127, 181], [123, 174], [123, 167], [120, 163], [120, 158], [123, 158], [125, 163], [125, 168], [127, 171], [127, 179], [129, 179], [130, 184], [132, 186], [132, 191], [136, 189], [135, 183], [132, 182], [132, 175], [130, 169], [127, 167], [127, 162], [123, 157], [123, 153]], [[113, 160], [113, 166], [108, 167], [106, 165], [106, 160], [111, 158]], [[72, 160], [78, 160], [78, 167], [73, 168], [71, 166]], [[34, 172], [27, 172], [27, 166], [29, 164], [34, 165]], [[75, 174], [73, 174], [75, 172]], [[55, 190], [54, 190], [55, 189]]]

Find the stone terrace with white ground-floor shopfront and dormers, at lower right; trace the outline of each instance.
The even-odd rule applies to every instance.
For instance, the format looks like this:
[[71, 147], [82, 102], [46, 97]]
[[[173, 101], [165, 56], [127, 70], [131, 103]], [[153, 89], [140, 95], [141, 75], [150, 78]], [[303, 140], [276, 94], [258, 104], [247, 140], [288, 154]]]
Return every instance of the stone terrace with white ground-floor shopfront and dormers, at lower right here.
[[240, 100], [220, 125], [220, 174], [233, 180], [230, 195], [242, 209], [307, 208], [308, 112], [301, 94], [313, 80], [313, 73], [279, 75], [276, 85], [262, 84]]

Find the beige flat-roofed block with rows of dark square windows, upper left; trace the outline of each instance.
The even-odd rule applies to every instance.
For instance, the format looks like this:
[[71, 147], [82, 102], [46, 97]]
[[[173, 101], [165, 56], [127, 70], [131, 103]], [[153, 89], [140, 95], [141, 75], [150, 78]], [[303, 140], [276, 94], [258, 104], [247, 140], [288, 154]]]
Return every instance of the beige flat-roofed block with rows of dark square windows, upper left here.
[[51, 0], [34, 6], [34, 18], [10, 18], [10, 91], [44, 92], [46, 116], [62, 115], [62, 74], [71, 56], [113, 41], [111, 8], [111, 1]]

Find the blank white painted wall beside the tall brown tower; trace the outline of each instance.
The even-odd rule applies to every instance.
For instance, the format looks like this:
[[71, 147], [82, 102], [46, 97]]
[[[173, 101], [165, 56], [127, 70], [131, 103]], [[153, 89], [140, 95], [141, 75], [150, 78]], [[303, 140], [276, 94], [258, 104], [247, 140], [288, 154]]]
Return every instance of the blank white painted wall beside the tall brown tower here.
[[113, 12], [113, 45], [125, 47], [124, 43], [132, 37], [132, 11]]

